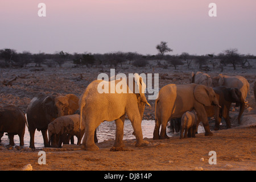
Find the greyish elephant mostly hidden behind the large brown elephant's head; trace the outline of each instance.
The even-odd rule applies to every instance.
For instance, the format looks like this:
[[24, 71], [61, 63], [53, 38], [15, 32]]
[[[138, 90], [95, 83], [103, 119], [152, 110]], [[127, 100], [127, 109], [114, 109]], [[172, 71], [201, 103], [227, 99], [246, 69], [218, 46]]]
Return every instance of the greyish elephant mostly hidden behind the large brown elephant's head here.
[[212, 78], [207, 74], [203, 72], [194, 72], [191, 73], [190, 77], [191, 83], [210, 86], [212, 85]]

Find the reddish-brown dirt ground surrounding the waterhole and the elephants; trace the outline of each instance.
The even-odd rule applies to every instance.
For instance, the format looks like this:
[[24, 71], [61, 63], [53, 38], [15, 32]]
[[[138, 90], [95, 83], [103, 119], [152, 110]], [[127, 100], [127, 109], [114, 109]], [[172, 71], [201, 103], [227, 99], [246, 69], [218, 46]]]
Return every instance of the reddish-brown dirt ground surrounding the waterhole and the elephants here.
[[[14, 104], [26, 112], [30, 100], [39, 92], [74, 93], [80, 96], [86, 85], [97, 78], [103, 68], [45, 68], [44, 71], [35, 71], [34, 68], [2, 69], [0, 72], [0, 104]], [[188, 84], [191, 71], [181, 69], [154, 68], [159, 74], [159, 88], [170, 83]], [[101, 71], [100, 71], [101, 70]], [[152, 68], [127, 68], [116, 71], [124, 73], [144, 72], [154, 73]], [[224, 69], [225, 71], [225, 69]], [[109, 74], [109, 69], [103, 72]], [[216, 76], [215, 72], [208, 72]], [[224, 73], [225, 74], [225, 73]], [[11, 80], [15, 76], [23, 76], [13, 81], [12, 85], [1, 85], [3, 80]], [[249, 103], [242, 117], [242, 125], [237, 126], [236, 114], [238, 110], [232, 108], [230, 114], [232, 129], [212, 131], [213, 136], [205, 137], [197, 134], [196, 138], [180, 140], [171, 139], [148, 141], [146, 147], [134, 147], [135, 140], [125, 140], [125, 151], [110, 151], [114, 141], [108, 140], [98, 143], [98, 151], [54, 151], [46, 152], [46, 164], [39, 165], [38, 152], [30, 148], [22, 150], [7, 149], [0, 146], [0, 170], [21, 170], [26, 164], [31, 164], [33, 170], [255, 170], [256, 169], [256, 103], [253, 95], [255, 69], [230, 69], [226, 75], [241, 75], [250, 83]], [[72, 88], [72, 89], [71, 89]], [[143, 119], [154, 119], [154, 101], [149, 101], [152, 107], [146, 107]], [[209, 164], [210, 151], [216, 151], [217, 164]], [[201, 159], [201, 160], [200, 160]], [[201, 167], [201, 168], [200, 168]]]

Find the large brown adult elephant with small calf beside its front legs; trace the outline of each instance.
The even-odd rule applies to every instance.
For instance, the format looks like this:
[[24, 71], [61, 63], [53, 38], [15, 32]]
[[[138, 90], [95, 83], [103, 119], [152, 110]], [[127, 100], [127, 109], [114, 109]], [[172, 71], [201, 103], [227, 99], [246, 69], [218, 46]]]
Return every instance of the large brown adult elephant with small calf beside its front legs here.
[[[169, 138], [166, 134], [167, 121], [171, 118], [180, 118], [188, 110], [195, 109], [199, 121], [203, 122], [205, 136], [213, 135], [209, 129], [209, 122], [204, 106], [218, 106], [218, 100], [213, 89], [209, 86], [198, 84], [176, 85], [169, 84], [163, 86], [155, 100], [155, 129], [153, 139]], [[216, 116], [218, 116], [216, 109]], [[162, 129], [159, 135], [159, 128]]]

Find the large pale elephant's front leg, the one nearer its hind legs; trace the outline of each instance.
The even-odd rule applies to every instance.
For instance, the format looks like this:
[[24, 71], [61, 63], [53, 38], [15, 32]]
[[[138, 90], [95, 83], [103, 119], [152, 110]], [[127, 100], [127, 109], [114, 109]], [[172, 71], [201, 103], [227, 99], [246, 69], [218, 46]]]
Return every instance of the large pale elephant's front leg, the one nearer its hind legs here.
[[114, 147], [125, 147], [123, 144], [123, 125], [125, 124], [125, 115], [115, 119], [116, 133]]

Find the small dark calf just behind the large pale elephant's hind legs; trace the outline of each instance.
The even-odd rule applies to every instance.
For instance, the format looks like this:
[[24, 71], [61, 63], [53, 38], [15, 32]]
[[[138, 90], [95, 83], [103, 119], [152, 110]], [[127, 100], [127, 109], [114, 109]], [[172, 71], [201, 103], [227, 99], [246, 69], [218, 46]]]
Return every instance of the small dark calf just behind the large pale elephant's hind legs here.
[[[64, 115], [56, 118], [48, 124], [49, 146], [61, 147], [62, 143], [68, 143], [69, 139], [75, 135], [77, 137], [77, 144], [80, 145], [81, 139], [84, 135], [85, 127], [80, 124], [80, 115]], [[50, 145], [51, 144], [51, 145]]]

